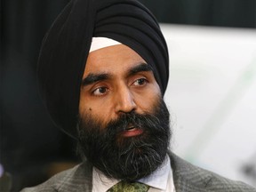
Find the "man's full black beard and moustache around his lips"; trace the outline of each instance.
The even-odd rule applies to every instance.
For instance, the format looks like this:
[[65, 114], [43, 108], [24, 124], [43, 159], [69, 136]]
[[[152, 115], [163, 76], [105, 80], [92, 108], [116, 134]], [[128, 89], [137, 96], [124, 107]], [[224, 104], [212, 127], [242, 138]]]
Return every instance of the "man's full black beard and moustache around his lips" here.
[[[171, 138], [169, 111], [160, 99], [154, 113], [131, 112], [106, 127], [85, 115], [78, 124], [78, 150], [109, 178], [139, 180], [160, 166]], [[118, 137], [128, 125], [143, 130], [135, 137]]]

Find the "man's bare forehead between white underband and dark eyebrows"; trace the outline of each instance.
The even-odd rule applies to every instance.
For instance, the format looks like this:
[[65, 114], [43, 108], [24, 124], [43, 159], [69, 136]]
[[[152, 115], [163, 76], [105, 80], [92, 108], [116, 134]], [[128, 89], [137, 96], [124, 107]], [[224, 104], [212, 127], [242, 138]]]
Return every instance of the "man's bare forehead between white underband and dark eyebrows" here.
[[115, 73], [146, 63], [137, 52], [124, 44], [108, 46], [90, 52], [84, 68], [84, 76], [90, 73]]

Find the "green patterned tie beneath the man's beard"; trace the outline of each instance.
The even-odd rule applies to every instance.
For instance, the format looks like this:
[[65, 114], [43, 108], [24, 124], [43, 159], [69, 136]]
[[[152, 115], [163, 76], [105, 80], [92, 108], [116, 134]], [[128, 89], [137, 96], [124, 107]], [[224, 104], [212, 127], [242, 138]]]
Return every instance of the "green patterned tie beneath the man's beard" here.
[[147, 192], [149, 186], [140, 182], [127, 182], [120, 181], [112, 188], [109, 188], [107, 192]]

